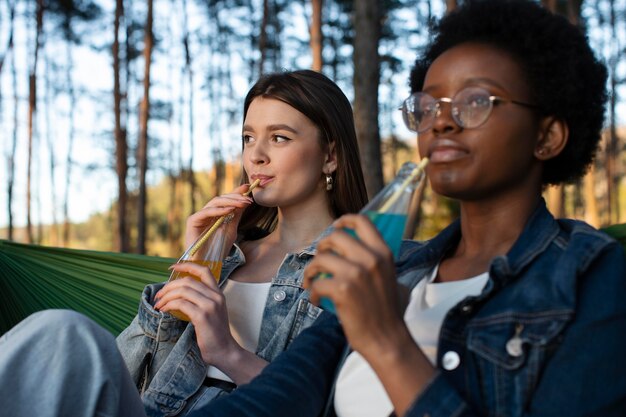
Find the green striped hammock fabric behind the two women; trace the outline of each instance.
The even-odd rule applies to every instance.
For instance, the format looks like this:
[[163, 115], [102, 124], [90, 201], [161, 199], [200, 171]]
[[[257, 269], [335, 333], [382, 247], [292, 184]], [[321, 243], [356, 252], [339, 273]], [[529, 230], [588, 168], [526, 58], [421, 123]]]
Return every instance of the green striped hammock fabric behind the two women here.
[[[603, 230], [626, 250], [626, 224]], [[79, 311], [117, 335], [137, 313], [143, 287], [164, 281], [175, 261], [0, 240], [0, 335], [47, 308]]]

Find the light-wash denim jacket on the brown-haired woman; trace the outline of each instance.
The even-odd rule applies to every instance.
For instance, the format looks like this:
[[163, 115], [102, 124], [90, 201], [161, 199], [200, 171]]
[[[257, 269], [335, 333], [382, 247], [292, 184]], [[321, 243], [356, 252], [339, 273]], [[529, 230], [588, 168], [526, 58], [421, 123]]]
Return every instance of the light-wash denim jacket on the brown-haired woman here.
[[[328, 233], [325, 231], [317, 240]], [[308, 291], [302, 288], [304, 267], [315, 253], [317, 240], [300, 253], [287, 254], [272, 279], [255, 352], [269, 362], [321, 313], [309, 303]], [[222, 264], [219, 285], [244, 263], [243, 252], [234, 245]], [[226, 394], [220, 388], [203, 385], [207, 366], [193, 325], [154, 309], [154, 295], [164, 285], [145, 287], [137, 316], [117, 338], [151, 417], [186, 415]]]

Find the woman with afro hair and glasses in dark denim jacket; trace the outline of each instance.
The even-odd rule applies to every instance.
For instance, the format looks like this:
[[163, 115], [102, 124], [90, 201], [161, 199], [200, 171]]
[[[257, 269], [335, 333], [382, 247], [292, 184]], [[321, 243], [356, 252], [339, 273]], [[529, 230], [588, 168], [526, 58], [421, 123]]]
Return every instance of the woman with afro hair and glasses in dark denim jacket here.
[[[534, 1], [467, 1], [444, 17], [402, 113], [460, 218], [404, 242], [394, 264], [367, 218], [341, 217], [305, 270], [311, 302], [331, 299], [336, 315], [193, 415], [626, 415], [623, 250], [541, 197], [593, 161], [605, 83], [581, 31]], [[76, 343], [99, 335], [80, 326]]]

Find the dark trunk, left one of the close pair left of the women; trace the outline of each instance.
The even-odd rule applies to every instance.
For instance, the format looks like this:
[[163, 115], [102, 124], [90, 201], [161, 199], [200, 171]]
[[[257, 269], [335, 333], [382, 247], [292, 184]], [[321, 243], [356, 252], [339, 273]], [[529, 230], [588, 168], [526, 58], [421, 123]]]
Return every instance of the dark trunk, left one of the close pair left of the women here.
[[115, 116], [115, 173], [117, 174], [117, 250], [130, 251], [128, 228], [126, 226], [126, 205], [128, 204], [128, 189], [126, 177], [128, 175], [128, 143], [126, 141], [126, 126], [122, 125], [122, 86], [120, 81], [120, 21], [124, 15], [124, 0], [116, 0], [115, 19], [113, 23], [113, 112]]

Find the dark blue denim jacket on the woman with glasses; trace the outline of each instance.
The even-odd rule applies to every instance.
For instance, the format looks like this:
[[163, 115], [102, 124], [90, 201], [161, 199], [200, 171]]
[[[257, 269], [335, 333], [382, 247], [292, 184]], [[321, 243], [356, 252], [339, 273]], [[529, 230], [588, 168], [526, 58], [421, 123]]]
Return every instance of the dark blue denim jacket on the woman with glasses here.
[[[413, 287], [459, 238], [456, 222], [428, 242], [405, 242], [399, 281]], [[626, 415], [626, 260], [617, 242], [555, 220], [542, 203], [489, 275], [480, 295], [446, 315], [437, 375], [406, 415]], [[342, 350], [341, 327], [324, 313], [250, 384], [198, 415], [319, 416]]]

